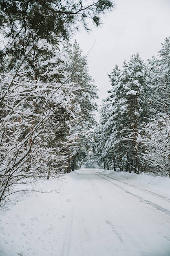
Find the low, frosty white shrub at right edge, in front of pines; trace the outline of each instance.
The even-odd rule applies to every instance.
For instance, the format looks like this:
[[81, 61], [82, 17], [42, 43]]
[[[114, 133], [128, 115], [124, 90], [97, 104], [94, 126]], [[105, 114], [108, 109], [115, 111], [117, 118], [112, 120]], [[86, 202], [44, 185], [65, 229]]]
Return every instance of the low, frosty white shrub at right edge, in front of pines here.
[[151, 119], [142, 129], [139, 141], [145, 148], [146, 171], [170, 177], [170, 117]]

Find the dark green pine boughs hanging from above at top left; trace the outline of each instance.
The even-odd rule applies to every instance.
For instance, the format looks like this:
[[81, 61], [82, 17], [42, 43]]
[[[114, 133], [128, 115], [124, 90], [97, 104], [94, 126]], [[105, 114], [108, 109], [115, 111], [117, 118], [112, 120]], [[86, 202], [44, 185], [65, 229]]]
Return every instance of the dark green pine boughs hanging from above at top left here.
[[[38, 48], [39, 40], [51, 45], [59, 45], [61, 39], [70, 38], [79, 25], [88, 29], [88, 20], [99, 26], [101, 14], [111, 11], [114, 3], [110, 0], [95, 2], [68, 0], [1, 0], [0, 28], [4, 38], [4, 49], [0, 50], [0, 60], [4, 63], [7, 54], [13, 56], [11, 65], [21, 57], [28, 57]], [[35, 55], [31, 54], [29, 65], [35, 68]], [[2, 65], [6, 70], [6, 65]]]

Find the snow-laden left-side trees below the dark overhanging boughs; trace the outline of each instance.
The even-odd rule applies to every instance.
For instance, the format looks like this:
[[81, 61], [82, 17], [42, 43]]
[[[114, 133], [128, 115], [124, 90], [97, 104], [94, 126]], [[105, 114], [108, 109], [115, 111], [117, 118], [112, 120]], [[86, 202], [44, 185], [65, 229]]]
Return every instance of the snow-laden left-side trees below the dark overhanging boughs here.
[[0, 76], [0, 201], [15, 184], [57, 177], [88, 155], [97, 94], [86, 58], [77, 43], [69, 51], [38, 44], [44, 54], [36, 59], [36, 74], [23, 57]]

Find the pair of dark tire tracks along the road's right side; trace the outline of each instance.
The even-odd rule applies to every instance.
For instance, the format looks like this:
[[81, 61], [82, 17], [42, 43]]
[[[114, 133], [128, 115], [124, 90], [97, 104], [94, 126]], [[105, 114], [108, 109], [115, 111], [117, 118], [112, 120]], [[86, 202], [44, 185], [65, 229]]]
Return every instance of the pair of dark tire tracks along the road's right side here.
[[[166, 213], [166, 214], [168, 214], [168, 215], [170, 216], [170, 211], [169, 211], [168, 209], [165, 209], [165, 208], [161, 207], [160, 205], [155, 204], [155, 203], [153, 203], [153, 202], [151, 202], [151, 201], [149, 201], [149, 200], [145, 200], [144, 198], [140, 197], [139, 195], [135, 195], [135, 194], [129, 192], [128, 190], [124, 189], [122, 186], [119, 186], [118, 184], [115, 184], [115, 183], [111, 182], [110, 180], [104, 178], [103, 176], [106, 176], [106, 177], [108, 177], [108, 178], [110, 178], [110, 179], [112, 179], [112, 180], [116, 180], [116, 179], [114, 179], [113, 177], [110, 177], [110, 176], [108, 176], [108, 175], [102, 175], [102, 176], [101, 176], [101, 175], [99, 175], [99, 174], [97, 174], [97, 173], [96, 173], [96, 175], [99, 176], [99, 177], [101, 177], [102, 179], [107, 180], [108, 182], [114, 184], [115, 186], [119, 187], [119, 189], [124, 190], [126, 193], [135, 196], [136, 198], [139, 199], [140, 202], [144, 202], [144, 203], [146, 203], [146, 204], [149, 204], [150, 206], [155, 207], [157, 210], [162, 211], [163, 213]], [[117, 181], [119, 181], [119, 180], [117, 180]], [[121, 182], [121, 181], [119, 181], [119, 182]], [[121, 183], [124, 183], [124, 184], [127, 184], [127, 185], [131, 186], [130, 184], [128, 184], [128, 183], [126, 183], [126, 182], [121, 182]], [[137, 189], [141, 189], [141, 188], [138, 188], [137, 186], [134, 186], [134, 185], [132, 185], [132, 186], [135, 187], [135, 188], [137, 188]], [[151, 192], [151, 191], [147, 191], [147, 190], [145, 190], [145, 189], [142, 189], [142, 190], [144, 190], [144, 191], [146, 191], [146, 192]], [[151, 193], [152, 193], [152, 192], [151, 192]], [[159, 194], [157, 194], [157, 193], [153, 193], [153, 195], [154, 195], [154, 194], [155, 194], [155, 195], [159, 195]], [[159, 196], [161, 197], [161, 195], [159, 195]], [[162, 198], [162, 199], [165, 199], [166, 197], [161, 197], [161, 198]], [[169, 198], [166, 198], [166, 199], [169, 200]]]

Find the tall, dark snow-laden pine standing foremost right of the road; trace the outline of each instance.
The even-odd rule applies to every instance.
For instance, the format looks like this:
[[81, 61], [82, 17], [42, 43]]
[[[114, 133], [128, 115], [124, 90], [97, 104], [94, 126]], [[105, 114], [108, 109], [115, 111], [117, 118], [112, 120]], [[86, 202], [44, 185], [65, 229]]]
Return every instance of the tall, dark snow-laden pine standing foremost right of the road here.
[[115, 66], [109, 78], [113, 88], [105, 101], [106, 117], [102, 117], [106, 134], [102, 154], [112, 155], [114, 169], [139, 173], [143, 171], [138, 135], [146, 118], [146, 66], [139, 54], [132, 55], [122, 70]]

